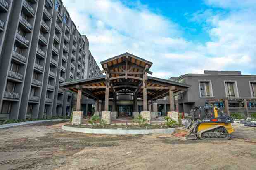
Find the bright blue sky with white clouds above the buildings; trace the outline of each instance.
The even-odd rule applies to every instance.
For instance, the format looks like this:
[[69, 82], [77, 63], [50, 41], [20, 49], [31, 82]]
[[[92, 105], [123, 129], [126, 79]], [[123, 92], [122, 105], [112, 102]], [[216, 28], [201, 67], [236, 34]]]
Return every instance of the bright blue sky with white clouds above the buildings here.
[[256, 0], [62, 0], [97, 63], [123, 54], [154, 77], [256, 74]]

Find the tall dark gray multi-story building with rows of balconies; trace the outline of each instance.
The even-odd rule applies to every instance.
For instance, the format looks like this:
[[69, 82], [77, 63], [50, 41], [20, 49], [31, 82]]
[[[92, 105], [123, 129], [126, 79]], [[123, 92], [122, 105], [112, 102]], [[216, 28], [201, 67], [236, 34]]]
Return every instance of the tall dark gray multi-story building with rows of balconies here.
[[67, 115], [59, 83], [100, 75], [60, 0], [0, 0], [0, 119]]

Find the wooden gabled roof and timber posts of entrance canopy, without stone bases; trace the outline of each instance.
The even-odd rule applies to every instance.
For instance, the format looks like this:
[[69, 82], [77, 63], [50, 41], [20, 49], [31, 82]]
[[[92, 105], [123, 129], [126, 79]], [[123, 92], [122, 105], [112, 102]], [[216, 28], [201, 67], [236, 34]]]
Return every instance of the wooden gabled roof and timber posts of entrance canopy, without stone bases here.
[[100, 62], [105, 75], [60, 84], [64, 89], [76, 92], [76, 110], [81, 110], [81, 97], [85, 95], [96, 100], [96, 111], [99, 101], [104, 101], [104, 110], [109, 110], [109, 98], [112, 98], [112, 111], [116, 111], [118, 95], [132, 95], [134, 110], [138, 111], [137, 99], [143, 99], [143, 111], [148, 111], [147, 103], [169, 96], [170, 111], [174, 111], [174, 93], [184, 91], [190, 85], [148, 76], [152, 62], [124, 53]]

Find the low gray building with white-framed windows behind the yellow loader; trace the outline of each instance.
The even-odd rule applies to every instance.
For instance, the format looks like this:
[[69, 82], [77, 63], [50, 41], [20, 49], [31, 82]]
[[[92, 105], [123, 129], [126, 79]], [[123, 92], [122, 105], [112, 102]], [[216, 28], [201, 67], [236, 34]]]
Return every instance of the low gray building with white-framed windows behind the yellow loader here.
[[[191, 85], [177, 95], [180, 112], [190, 113], [194, 106], [210, 104], [224, 108], [225, 100], [230, 108], [256, 108], [256, 75], [243, 75], [240, 71], [204, 71], [204, 74], [185, 74], [171, 79]], [[241, 111], [235, 109], [234, 112]]]

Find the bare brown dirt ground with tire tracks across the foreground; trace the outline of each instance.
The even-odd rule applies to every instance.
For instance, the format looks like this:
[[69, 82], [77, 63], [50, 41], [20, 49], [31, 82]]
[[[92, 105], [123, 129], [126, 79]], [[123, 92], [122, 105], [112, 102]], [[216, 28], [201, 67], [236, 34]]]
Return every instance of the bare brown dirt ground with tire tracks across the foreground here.
[[233, 125], [228, 141], [172, 135], [89, 135], [64, 123], [0, 129], [0, 170], [255, 170], [256, 128]]

